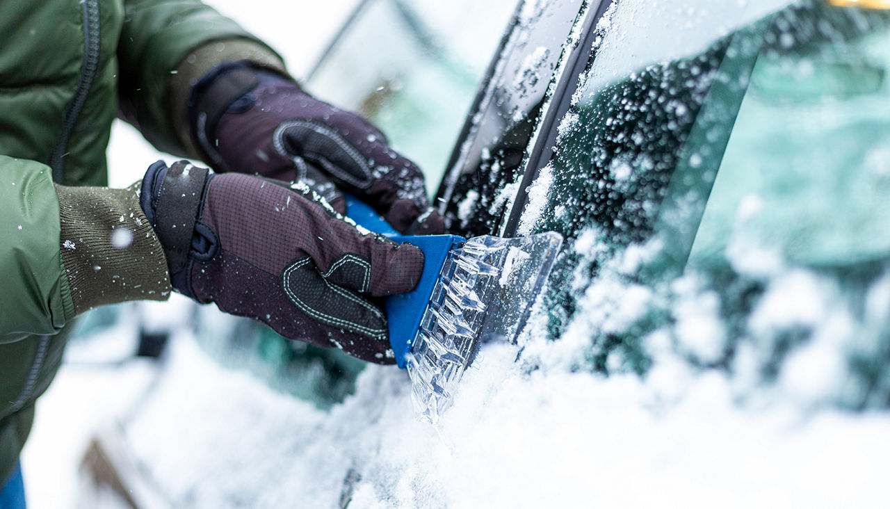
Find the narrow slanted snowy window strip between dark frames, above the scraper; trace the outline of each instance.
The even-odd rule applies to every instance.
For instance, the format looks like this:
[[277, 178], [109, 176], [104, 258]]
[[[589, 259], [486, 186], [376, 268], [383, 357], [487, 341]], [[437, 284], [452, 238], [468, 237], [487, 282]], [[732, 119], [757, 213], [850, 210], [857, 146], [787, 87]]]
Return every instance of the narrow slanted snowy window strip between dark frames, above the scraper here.
[[559, 82], [565, 55], [596, 2], [528, 0], [465, 125], [438, 198], [450, 230], [496, 232], [519, 190], [527, 148]]

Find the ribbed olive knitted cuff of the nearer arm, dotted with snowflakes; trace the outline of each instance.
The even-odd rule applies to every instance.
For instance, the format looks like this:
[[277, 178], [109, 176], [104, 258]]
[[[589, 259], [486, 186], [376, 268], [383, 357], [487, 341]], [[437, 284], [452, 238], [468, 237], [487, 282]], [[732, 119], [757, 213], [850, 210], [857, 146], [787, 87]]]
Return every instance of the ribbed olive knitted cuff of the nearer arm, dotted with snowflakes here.
[[116, 190], [56, 185], [61, 260], [75, 314], [170, 296], [164, 249], [139, 205], [141, 182]]

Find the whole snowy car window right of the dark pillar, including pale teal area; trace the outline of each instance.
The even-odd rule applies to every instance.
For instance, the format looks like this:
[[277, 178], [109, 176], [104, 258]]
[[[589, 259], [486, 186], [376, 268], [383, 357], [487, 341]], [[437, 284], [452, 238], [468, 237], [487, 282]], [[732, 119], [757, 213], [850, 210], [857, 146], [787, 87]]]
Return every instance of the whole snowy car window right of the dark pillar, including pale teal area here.
[[[650, 25], [661, 26], [671, 12], [676, 23], [666, 26], [681, 25], [691, 10], [665, 3], [641, 19], [633, 1], [619, 2], [610, 22], [630, 29], [609, 34], [634, 39], [635, 31], [651, 34]], [[529, 207], [525, 230], [537, 220], [538, 230], [577, 238], [595, 224], [613, 246], [669, 230], [662, 236], [669, 237], [676, 261], [685, 263], [693, 242], [696, 260], [725, 248], [727, 225], [748, 196], [748, 206], [756, 201], [770, 218], [761, 221], [762, 233], [779, 235], [778, 226], [765, 226], [776, 214], [789, 219], [782, 241], [786, 254], [831, 258], [828, 251], [839, 242], [847, 249], [886, 250], [884, 238], [825, 238], [840, 221], [850, 222], [841, 228], [847, 231], [853, 222], [862, 227], [859, 232], [883, 225], [883, 188], [872, 182], [878, 175], [868, 173], [866, 161], [882, 163], [890, 118], [886, 11], [808, 2], [737, 29], [732, 26], [745, 19], [745, 4], [718, 12], [723, 24], [698, 19], [711, 33], [709, 43], [684, 38], [647, 54], [633, 51], [633, 44], [611, 45], [606, 36], [559, 127], [556, 157], [543, 171], [541, 180], [552, 181], [541, 188], [549, 203]], [[681, 56], [659, 61], [664, 55]], [[619, 73], [628, 74], [615, 79]], [[870, 192], [857, 195], [859, 188]], [[845, 198], [837, 195], [842, 192]], [[829, 196], [837, 211], [861, 217], [821, 219], [828, 210], [815, 214], [816, 207]], [[840, 206], [856, 196], [856, 204]], [[792, 199], [799, 206], [789, 206]], [[806, 246], [803, 234], [790, 238], [805, 215], [821, 227], [806, 233], [813, 236]], [[834, 257], [843, 257], [844, 249], [837, 248]]]

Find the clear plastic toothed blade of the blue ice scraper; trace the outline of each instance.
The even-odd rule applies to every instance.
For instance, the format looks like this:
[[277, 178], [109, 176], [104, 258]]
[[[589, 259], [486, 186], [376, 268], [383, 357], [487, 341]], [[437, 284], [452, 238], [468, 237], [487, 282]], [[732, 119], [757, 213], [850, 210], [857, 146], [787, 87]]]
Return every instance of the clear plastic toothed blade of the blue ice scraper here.
[[476, 237], [452, 249], [408, 362], [418, 415], [436, 423], [482, 343], [514, 342], [553, 269], [562, 236]]

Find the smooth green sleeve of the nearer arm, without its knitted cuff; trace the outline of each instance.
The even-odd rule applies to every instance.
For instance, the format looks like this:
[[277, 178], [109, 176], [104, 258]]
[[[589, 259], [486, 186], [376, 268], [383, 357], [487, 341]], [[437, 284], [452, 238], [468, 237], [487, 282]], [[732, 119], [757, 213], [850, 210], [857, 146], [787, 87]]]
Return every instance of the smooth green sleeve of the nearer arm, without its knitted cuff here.
[[74, 315], [49, 166], [0, 156], [0, 343], [59, 332]]

